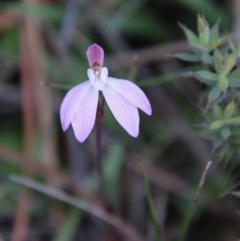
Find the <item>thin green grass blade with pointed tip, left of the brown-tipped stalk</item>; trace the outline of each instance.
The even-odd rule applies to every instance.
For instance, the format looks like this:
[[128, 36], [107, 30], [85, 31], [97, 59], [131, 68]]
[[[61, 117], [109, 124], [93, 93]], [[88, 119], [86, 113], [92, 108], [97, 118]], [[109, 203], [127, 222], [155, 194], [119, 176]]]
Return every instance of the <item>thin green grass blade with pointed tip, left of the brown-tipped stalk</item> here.
[[157, 217], [156, 217], [156, 211], [155, 211], [155, 207], [154, 207], [154, 203], [153, 203], [150, 184], [148, 182], [148, 178], [147, 178], [147, 174], [144, 169], [144, 166], [140, 160], [139, 160], [139, 165], [141, 167], [141, 171], [142, 171], [142, 175], [143, 175], [144, 186], [145, 186], [145, 191], [146, 191], [146, 195], [147, 195], [147, 203], [148, 203], [148, 208], [149, 208], [150, 221], [153, 226], [153, 231], [154, 231], [154, 236], [155, 236], [154, 240], [161, 241], [162, 240], [161, 226], [159, 225]]

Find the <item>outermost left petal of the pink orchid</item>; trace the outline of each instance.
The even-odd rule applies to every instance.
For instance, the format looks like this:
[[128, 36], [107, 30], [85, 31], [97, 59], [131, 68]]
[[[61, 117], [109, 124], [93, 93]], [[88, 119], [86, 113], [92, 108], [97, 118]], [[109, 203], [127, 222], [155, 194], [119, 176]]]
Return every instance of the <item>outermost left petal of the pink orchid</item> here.
[[77, 109], [81, 105], [81, 102], [90, 87], [90, 82], [85, 81], [68, 91], [67, 95], [64, 97], [60, 107], [60, 119], [63, 131], [66, 131], [69, 127]]

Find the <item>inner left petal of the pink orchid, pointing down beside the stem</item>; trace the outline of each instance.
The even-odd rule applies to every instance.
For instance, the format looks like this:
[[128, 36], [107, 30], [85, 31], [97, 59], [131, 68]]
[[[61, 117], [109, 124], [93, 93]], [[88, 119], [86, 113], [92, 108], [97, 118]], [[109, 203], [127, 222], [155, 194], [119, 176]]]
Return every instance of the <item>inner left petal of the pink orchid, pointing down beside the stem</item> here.
[[72, 120], [74, 134], [80, 142], [85, 141], [94, 126], [98, 95], [99, 91], [91, 87], [82, 99], [78, 111]]

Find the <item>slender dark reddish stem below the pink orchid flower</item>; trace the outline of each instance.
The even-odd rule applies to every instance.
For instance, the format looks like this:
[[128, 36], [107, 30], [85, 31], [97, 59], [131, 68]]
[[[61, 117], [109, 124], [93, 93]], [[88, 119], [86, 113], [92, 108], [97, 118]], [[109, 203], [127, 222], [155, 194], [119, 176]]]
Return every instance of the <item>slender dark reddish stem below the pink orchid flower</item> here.
[[103, 173], [103, 164], [102, 164], [102, 120], [104, 116], [104, 99], [98, 102], [97, 107], [97, 116], [96, 116], [96, 161], [97, 161], [97, 172], [99, 178], [99, 195], [104, 197], [104, 173]]

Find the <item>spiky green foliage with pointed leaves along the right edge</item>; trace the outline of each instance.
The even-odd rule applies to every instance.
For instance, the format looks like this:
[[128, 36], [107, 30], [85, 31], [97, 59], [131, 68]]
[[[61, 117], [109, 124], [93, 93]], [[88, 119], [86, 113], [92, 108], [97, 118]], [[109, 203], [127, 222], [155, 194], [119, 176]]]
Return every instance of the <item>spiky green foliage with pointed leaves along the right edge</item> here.
[[[199, 70], [191, 73], [208, 85], [207, 111], [202, 112], [205, 122], [201, 126], [206, 128], [205, 137], [213, 142], [213, 151], [220, 148], [218, 157], [223, 160], [240, 143], [240, 136], [236, 134], [240, 125], [237, 105], [240, 101], [240, 69], [236, 67], [239, 43], [234, 44], [230, 38], [219, 35], [219, 20], [210, 28], [206, 19], [198, 15], [197, 23], [198, 35], [182, 26], [193, 53], [175, 56], [188, 62], [199, 60], [202, 63]], [[221, 47], [223, 42], [228, 45]]]

